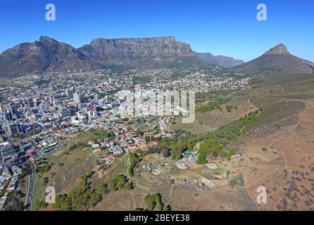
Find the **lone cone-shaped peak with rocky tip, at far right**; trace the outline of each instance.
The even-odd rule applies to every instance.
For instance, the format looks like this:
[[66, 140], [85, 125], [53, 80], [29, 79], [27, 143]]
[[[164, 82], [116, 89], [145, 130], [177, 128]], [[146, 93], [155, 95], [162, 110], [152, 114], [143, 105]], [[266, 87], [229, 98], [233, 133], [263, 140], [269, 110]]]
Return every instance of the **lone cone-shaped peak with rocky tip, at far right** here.
[[234, 72], [289, 72], [289, 73], [312, 73], [314, 72], [314, 63], [292, 56], [284, 44], [279, 44], [266, 51], [260, 56], [248, 63], [244, 63], [230, 69]]

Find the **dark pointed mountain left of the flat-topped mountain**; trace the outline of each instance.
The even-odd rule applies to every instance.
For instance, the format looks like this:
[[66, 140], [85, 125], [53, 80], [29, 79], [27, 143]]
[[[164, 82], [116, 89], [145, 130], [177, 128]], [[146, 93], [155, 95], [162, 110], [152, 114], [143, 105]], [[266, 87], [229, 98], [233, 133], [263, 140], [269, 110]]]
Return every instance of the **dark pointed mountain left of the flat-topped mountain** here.
[[100, 68], [73, 46], [50, 37], [18, 44], [0, 55], [0, 76], [15, 77], [26, 72], [66, 71], [77, 68]]

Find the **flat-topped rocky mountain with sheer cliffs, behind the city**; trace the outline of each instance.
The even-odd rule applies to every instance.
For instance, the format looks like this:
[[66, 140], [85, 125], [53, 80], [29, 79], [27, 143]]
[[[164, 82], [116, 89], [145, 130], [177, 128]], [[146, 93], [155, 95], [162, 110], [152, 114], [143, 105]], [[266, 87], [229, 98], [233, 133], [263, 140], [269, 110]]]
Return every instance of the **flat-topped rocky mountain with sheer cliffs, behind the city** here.
[[199, 62], [189, 44], [175, 37], [94, 39], [78, 49], [102, 65], [154, 68], [206, 66]]

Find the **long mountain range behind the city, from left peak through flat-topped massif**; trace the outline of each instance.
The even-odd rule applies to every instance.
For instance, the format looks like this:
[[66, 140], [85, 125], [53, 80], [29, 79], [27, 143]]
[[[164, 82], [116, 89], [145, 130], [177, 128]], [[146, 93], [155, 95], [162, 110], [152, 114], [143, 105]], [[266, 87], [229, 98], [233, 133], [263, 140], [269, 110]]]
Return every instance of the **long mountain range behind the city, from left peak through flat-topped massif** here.
[[203, 68], [211, 65], [231, 67], [242, 61], [211, 53], [191, 51], [189, 44], [175, 37], [132, 39], [94, 39], [75, 49], [50, 37], [19, 44], [0, 55], [0, 77], [27, 72], [66, 72], [95, 70], [111, 66], [129, 68]]

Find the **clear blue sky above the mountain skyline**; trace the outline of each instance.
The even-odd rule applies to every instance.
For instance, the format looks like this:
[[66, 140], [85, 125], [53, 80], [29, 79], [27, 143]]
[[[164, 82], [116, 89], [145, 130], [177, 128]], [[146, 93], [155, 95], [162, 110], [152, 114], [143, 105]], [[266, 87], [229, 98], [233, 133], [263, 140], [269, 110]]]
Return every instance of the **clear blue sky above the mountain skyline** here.
[[[56, 21], [45, 20], [48, 3]], [[256, 6], [268, 6], [268, 21]], [[92, 39], [175, 36], [198, 52], [251, 60], [284, 43], [314, 61], [314, 1], [11, 0], [0, 2], [0, 52], [46, 35], [75, 47]]]

